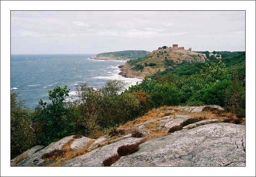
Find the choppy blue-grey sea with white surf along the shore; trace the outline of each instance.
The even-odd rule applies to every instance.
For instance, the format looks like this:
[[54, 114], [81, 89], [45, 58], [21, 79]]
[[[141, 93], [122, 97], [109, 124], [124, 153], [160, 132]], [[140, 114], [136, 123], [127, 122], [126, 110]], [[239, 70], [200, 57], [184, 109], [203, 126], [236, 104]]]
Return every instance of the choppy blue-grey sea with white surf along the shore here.
[[[87, 83], [98, 89], [107, 80], [123, 80], [126, 88], [142, 79], [119, 75], [119, 65], [125, 61], [94, 60], [95, 54], [22, 54], [11, 55], [11, 93], [16, 92], [31, 109], [40, 106], [38, 101], [51, 103], [48, 90], [57, 84], [68, 86], [69, 98], [76, 100], [75, 87]], [[67, 98], [67, 99], [69, 99]]]

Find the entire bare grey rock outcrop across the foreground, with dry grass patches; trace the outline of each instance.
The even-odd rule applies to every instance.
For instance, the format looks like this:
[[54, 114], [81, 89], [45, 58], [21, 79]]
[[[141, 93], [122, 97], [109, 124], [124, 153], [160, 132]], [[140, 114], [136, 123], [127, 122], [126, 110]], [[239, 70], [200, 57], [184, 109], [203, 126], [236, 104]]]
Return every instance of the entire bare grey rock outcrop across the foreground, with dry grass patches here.
[[[223, 109], [218, 105], [209, 106]], [[168, 133], [169, 128], [180, 125], [192, 114], [202, 115], [204, 107], [176, 107], [164, 110], [164, 113], [170, 115], [154, 117], [140, 123], [131, 122], [133, 125], [126, 128], [126, 135], [105, 135], [97, 140], [86, 137], [73, 139], [73, 136], [68, 136], [45, 148], [35, 147], [28, 150], [31, 153], [24, 152], [25, 159], [16, 166], [46, 166], [50, 161], [42, 159], [42, 155], [63, 149], [68, 143], [73, 151], [79, 151], [89, 145], [88, 153], [63, 160], [64, 163], [60, 166], [102, 166], [106, 158], [117, 154], [118, 147], [139, 142], [144, 138], [148, 140], [139, 145], [137, 152], [122, 156], [112, 166], [245, 166], [244, 125], [220, 123], [218, 119], [209, 118], [184, 126], [180, 131]], [[134, 130], [144, 132], [143, 137], [132, 137], [129, 132]], [[152, 136], [157, 132], [162, 132], [162, 135]], [[90, 145], [88, 142], [93, 143]], [[11, 163], [15, 159], [11, 160]]]

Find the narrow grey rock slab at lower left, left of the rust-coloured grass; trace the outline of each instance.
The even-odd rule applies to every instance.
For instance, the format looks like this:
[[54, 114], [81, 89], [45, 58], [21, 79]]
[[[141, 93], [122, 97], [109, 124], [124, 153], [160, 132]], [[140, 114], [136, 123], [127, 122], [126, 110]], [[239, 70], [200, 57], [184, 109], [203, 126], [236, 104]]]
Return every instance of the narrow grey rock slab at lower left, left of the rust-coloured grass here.
[[73, 135], [62, 138], [61, 140], [59, 140], [57, 142], [53, 142], [53, 143], [49, 144], [46, 148], [34, 153], [33, 155], [29, 156], [28, 158], [22, 160], [16, 166], [28, 166], [28, 167], [35, 166], [44, 161], [44, 159], [41, 159], [41, 156], [43, 154], [51, 152], [55, 149], [64, 148], [66, 143], [71, 139], [73, 139]]

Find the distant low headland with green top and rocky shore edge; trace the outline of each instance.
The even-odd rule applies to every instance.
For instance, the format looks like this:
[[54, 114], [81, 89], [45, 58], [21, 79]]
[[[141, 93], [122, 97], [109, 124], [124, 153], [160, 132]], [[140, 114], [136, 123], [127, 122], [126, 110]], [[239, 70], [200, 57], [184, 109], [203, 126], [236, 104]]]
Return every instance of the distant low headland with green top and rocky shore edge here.
[[131, 60], [144, 57], [150, 52], [145, 50], [124, 50], [118, 52], [107, 52], [93, 55], [91, 59], [96, 60]]

